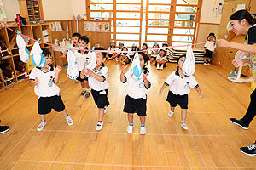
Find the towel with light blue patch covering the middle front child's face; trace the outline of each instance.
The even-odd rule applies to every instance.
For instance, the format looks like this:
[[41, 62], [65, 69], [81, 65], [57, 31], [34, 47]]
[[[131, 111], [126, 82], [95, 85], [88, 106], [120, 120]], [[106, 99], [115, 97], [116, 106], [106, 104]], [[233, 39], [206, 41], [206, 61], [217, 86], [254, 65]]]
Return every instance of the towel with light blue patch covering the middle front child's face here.
[[131, 64], [131, 77], [135, 80], [140, 80], [143, 77], [143, 68], [141, 66], [141, 61], [139, 54], [136, 52], [134, 55], [133, 62]]

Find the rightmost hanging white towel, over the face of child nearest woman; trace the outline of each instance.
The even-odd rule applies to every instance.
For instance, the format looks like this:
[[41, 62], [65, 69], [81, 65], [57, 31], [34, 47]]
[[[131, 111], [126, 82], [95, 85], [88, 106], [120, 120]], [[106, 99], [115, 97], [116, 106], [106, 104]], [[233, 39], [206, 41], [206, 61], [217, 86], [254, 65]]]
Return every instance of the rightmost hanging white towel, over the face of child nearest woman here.
[[191, 46], [187, 47], [186, 59], [183, 62], [182, 69], [186, 76], [192, 76], [195, 72], [195, 57]]

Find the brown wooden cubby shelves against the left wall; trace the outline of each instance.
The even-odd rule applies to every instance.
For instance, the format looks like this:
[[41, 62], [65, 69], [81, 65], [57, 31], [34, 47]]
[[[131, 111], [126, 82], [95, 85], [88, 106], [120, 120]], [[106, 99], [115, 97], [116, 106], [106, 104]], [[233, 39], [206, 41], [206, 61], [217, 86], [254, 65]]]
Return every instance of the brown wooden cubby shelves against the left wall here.
[[[49, 29], [49, 24], [42, 24], [42, 25], [26, 25], [26, 26], [8, 26], [10, 29], [14, 31], [21, 31], [21, 34], [24, 34], [26, 36], [32, 37], [34, 39], [41, 38], [40, 41], [43, 41], [43, 30], [49, 31], [49, 42], [51, 42], [51, 34]], [[24, 79], [24, 75], [29, 73], [34, 65], [32, 65], [32, 61], [28, 63], [20, 63], [20, 57], [19, 57], [19, 48], [16, 44], [16, 36], [17, 34], [14, 31], [10, 31], [6, 27], [2, 27], [0, 30], [0, 39], [3, 41], [2, 46], [5, 44], [6, 48], [2, 51], [2, 53], [5, 52], [3, 58], [0, 60], [0, 68], [2, 71], [0, 71], [0, 89], [4, 88], [9, 85], [11, 82], [19, 82], [20, 80]], [[26, 48], [31, 51], [32, 46], [34, 42], [32, 40], [27, 40]], [[53, 54], [53, 48], [52, 46], [49, 46], [47, 44], [41, 43], [40, 46], [42, 48], [48, 48], [51, 54]], [[53, 55], [53, 65], [55, 65], [55, 59]], [[5, 66], [9, 66], [9, 71], [11, 74], [6, 74], [4, 72]], [[22, 67], [22, 69], [20, 69]], [[3, 69], [4, 68], [4, 69]]]

